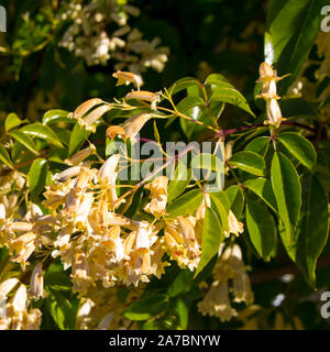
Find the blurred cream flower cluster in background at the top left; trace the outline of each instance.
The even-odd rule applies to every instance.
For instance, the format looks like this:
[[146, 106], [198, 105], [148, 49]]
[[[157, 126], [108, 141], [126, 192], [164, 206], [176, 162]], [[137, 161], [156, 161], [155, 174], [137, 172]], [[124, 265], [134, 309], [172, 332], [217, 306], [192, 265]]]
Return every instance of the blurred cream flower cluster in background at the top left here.
[[[131, 72], [141, 73], [147, 67], [157, 72], [164, 69], [168, 48], [160, 47], [160, 38], [148, 42], [138, 29], [128, 25], [130, 15], [138, 16], [140, 10], [127, 1], [92, 1], [84, 4], [76, 0], [64, 4], [65, 10], [59, 20], [70, 20], [73, 24], [66, 30], [61, 46], [82, 57], [87, 65], [106, 65], [116, 59], [116, 69], [129, 67]], [[107, 25], [118, 26], [111, 34]]]

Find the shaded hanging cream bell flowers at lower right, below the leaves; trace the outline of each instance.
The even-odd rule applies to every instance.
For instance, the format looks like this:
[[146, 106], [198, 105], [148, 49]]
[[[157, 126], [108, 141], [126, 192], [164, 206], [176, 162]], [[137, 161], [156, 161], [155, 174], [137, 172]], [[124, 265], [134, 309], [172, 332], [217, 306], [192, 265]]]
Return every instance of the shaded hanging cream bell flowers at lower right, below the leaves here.
[[246, 274], [249, 266], [243, 262], [240, 246], [233, 244], [224, 251], [223, 248], [222, 244], [213, 268], [213, 282], [205, 298], [198, 302], [198, 309], [202, 315], [229, 321], [238, 316], [238, 311], [231, 306], [230, 293], [233, 295], [234, 302], [245, 302], [248, 306], [253, 304], [254, 298]]

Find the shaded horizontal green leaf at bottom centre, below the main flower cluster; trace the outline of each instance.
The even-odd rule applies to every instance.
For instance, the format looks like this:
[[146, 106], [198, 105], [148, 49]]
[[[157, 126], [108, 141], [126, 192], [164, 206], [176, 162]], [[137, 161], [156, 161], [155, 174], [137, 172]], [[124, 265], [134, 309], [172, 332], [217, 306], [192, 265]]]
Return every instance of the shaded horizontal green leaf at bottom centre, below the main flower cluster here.
[[165, 310], [168, 306], [168, 296], [153, 295], [139, 299], [124, 310], [123, 316], [131, 320], [146, 320]]

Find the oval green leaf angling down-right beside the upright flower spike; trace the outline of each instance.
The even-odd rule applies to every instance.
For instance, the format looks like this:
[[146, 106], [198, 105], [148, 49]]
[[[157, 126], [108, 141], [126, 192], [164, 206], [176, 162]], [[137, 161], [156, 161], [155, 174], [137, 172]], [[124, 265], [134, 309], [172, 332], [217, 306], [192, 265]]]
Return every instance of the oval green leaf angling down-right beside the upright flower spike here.
[[307, 168], [315, 167], [317, 153], [312, 144], [302, 135], [294, 132], [280, 133], [276, 139]]

